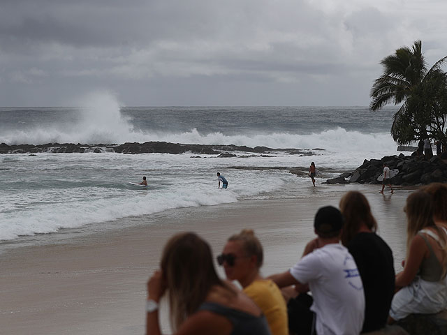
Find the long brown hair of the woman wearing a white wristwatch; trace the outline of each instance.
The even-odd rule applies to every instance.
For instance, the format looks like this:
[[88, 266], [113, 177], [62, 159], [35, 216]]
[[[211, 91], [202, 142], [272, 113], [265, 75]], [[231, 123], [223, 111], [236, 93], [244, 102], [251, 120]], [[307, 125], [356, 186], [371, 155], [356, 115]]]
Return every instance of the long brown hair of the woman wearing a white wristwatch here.
[[193, 232], [176, 234], [169, 239], [163, 249], [161, 270], [174, 330], [198, 310], [212, 286], [219, 285], [236, 294], [217, 276], [210, 245]]

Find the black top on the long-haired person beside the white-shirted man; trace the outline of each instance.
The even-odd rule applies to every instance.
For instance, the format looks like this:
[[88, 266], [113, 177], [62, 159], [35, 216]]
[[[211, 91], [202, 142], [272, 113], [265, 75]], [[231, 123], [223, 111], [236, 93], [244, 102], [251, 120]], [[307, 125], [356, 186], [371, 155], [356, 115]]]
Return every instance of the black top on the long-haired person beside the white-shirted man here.
[[385, 327], [395, 290], [393, 252], [374, 232], [359, 232], [348, 244], [365, 291], [362, 332]]

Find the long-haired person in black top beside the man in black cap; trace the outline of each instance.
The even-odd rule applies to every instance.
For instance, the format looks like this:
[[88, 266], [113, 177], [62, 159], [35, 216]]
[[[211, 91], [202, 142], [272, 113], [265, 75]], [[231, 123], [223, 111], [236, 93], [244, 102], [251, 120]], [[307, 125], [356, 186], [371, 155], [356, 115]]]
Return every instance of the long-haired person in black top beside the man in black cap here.
[[365, 320], [362, 332], [385, 327], [394, 295], [393, 253], [376, 234], [377, 223], [365, 195], [346, 193], [340, 200], [344, 216], [342, 244], [356, 261], [365, 292]]

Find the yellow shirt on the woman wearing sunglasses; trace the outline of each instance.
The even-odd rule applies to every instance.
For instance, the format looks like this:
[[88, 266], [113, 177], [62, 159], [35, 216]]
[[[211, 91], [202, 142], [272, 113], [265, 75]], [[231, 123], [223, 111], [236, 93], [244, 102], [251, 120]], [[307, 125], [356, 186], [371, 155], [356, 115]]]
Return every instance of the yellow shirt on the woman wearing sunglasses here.
[[286, 301], [275, 283], [267, 279], [254, 281], [244, 292], [263, 311], [272, 335], [288, 335]]

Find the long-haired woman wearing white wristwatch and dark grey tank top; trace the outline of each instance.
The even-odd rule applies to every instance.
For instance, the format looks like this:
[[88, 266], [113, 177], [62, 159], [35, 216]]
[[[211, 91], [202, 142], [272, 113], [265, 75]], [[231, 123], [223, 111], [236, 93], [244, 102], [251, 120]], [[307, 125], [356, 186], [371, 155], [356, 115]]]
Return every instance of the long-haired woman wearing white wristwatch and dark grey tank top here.
[[177, 335], [270, 334], [260, 308], [217, 276], [210, 246], [192, 232], [171, 237], [147, 290], [147, 335], [161, 334], [158, 304], [166, 291]]

